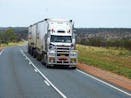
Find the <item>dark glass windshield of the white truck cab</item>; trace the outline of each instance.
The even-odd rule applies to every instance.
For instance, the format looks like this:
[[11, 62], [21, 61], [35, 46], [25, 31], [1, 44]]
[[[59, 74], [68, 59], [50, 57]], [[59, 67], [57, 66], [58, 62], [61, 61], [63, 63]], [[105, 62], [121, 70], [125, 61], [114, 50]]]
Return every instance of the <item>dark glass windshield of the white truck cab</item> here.
[[71, 43], [71, 36], [55, 36], [51, 35], [51, 42], [62, 42], [62, 43]]

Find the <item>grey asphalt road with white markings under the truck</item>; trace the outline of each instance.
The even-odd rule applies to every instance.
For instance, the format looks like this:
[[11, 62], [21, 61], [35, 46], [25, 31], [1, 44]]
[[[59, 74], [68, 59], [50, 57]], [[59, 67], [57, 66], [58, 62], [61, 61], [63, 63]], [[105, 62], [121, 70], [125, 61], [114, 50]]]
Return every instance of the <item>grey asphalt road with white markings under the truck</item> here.
[[131, 98], [131, 92], [78, 69], [48, 69], [26, 47], [10, 47], [0, 52], [0, 98]]

